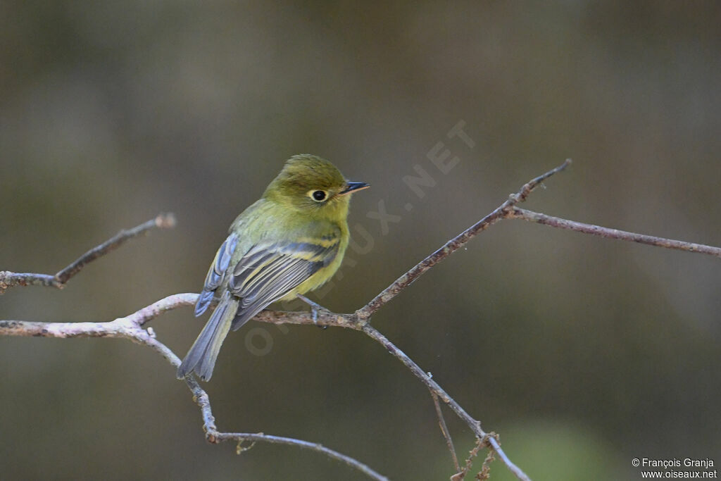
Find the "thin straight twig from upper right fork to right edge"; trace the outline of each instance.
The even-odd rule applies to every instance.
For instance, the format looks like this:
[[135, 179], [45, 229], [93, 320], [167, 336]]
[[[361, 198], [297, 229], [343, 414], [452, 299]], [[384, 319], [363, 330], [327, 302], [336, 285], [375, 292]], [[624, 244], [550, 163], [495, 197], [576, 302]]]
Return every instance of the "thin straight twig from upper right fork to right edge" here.
[[508, 219], [523, 219], [524, 221], [536, 222], [536, 224], [544, 224], [545, 226], [557, 227], [559, 229], [568, 229], [571, 231], [583, 232], [594, 236], [608, 237], [609, 239], [619, 239], [629, 242], [638, 242], [640, 244], [655, 245], [657, 247], [665, 247], [666, 249], [685, 250], [686, 252], [699, 252], [701, 254], [713, 255], [721, 257], [721, 248], [704, 244], [695, 244], [694, 242], [684, 242], [673, 239], [665, 239], [663, 237], [647, 236], [629, 231], [619, 231], [618, 229], [610, 229], [609, 227], [594, 226], [593, 224], [582, 224], [576, 221], [560, 219], [559, 217], [547, 216], [544, 213], [526, 211], [526, 209], [514, 207]]

